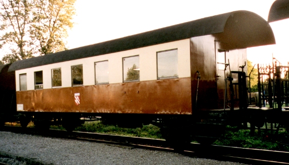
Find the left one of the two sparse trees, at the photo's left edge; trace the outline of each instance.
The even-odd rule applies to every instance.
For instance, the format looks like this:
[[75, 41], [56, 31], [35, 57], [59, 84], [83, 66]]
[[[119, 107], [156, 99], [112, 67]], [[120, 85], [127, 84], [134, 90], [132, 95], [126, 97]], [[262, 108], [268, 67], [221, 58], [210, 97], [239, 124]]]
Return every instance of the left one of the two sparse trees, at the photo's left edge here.
[[33, 46], [29, 41], [28, 26], [30, 23], [31, 3], [26, 0], [2, 0], [0, 48], [9, 44], [11, 52], [3, 58], [3, 63], [32, 57]]

